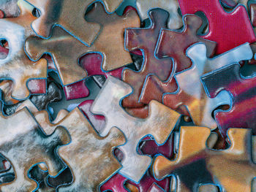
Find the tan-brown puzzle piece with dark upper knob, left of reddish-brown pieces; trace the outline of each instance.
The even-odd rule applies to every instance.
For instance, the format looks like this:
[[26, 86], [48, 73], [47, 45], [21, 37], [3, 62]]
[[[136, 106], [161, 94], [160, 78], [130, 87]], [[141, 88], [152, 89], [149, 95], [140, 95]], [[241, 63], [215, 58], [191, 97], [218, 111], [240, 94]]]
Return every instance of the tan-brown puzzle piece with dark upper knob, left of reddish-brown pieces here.
[[101, 53], [103, 70], [110, 71], [132, 63], [131, 55], [124, 49], [124, 30], [140, 27], [140, 17], [136, 9], [127, 7], [122, 16], [116, 13], [109, 15], [102, 4], [96, 2], [94, 8], [86, 15], [86, 19], [102, 26], [99, 37], [91, 47], [88, 47], [86, 53]]

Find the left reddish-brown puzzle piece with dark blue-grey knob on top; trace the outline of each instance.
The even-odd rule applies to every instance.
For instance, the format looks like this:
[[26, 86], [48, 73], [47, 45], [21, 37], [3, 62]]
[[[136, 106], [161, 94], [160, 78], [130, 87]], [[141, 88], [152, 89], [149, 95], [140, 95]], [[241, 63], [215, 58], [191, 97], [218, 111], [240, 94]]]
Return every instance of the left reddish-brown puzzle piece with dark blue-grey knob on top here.
[[122, 80], [133, 88], [133, 93], [122, 101], [123, 107], [142, 107], [139, 102], [140, 92], [143, 90], [143, 82], [148, 74], [155, 74], [161, 80], [166, 80], [172, 73], [172, 61], [170, 58], [159, 60], [154, 56], [159, 31], [166, 28], [168, 12], [162, 9], [153, 9], [148, 12], [151, 20], [149, 28], [127, 28], [125, 31], [125, 47], [129, 51], [143, 50], [143, 66], [139, 72], [132, 69], [124, 69]]

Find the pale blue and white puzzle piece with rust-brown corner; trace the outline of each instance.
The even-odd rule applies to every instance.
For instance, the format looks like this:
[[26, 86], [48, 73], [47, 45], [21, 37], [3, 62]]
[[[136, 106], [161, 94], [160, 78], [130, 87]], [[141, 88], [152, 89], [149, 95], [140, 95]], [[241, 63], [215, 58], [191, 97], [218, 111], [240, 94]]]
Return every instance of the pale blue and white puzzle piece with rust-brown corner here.
[[187, 107], [196, 126], [217, 128], [211, 114], [219, 106], [231, 106], [231, 96], [227, 91], [221, 91], [214, 99], [209, 98], [200, 77], [222, 66], [252, 58], [252, 50], [246, 43], [214, 58], [207, 58], [206, 45], [196, 43], [187, 49], [187, 56], [192, 60], [192, 67], [175, 75], [178, 91], [164, 94], [163, 102], [173, 110]]

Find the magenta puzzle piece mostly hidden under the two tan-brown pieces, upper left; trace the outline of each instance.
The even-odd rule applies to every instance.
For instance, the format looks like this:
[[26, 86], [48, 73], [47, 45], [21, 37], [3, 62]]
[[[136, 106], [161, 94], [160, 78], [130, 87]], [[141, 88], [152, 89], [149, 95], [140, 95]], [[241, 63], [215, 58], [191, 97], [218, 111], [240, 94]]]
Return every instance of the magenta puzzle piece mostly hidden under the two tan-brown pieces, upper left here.
[[[80, 66], [86, 70], [88, 77], [93, 75], [103, 75], [108, 78], [108, 75], [121, 79], [123, 68], [115, 69], [110, 72], [105, 72], [101, 68], [102, 56], [99, 53], [89, 53], [80, 58]], [[89, 96], [89, 89], [86, 87], [85, 80], [75, 82], [71, 85], [64, 86], [66, 99], [80, 99]]]

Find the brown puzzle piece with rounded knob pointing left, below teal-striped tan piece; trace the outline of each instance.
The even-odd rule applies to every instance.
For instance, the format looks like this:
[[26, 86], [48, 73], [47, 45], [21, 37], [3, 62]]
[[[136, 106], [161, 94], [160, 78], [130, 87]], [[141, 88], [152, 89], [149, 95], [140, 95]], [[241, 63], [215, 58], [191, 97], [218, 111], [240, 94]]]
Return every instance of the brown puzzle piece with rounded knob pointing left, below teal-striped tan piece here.
[[40, 59], [44, 53], [50, 53], [63, 85], [78, 82], [86, 77], [86, 72], [78, 65], [78, 58], [83, 55], [83, 47], [85, 45], [58, 26], [52, 29], [50, 39], [29, 37], [25, 45], [26, 53], [34, 61]]

